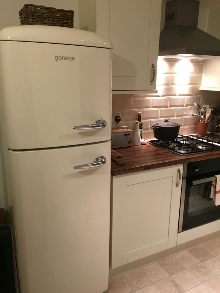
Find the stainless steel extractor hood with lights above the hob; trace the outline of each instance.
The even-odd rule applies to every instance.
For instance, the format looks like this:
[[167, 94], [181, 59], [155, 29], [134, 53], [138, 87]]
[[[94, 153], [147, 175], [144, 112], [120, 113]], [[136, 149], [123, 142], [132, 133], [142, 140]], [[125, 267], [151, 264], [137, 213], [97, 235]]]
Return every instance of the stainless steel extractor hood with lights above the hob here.
[[160, 33], [159, 56], [213, 59], [220, 57], [220, 40], [197, 27], [199, 1], [166, 2], [165, 27]]

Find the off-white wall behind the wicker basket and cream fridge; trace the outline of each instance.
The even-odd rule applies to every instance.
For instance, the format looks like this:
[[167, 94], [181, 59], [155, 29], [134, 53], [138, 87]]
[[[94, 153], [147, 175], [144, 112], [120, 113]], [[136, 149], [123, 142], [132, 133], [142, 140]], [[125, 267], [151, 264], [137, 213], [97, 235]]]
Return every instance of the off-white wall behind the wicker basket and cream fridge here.
[[[74, 27], [78, 28], [78, 0], [35, 0], [30, 2], [32, 4], [55, 7], [57, 9], [74, 10]], [[0, 0], [0, 30], [4, 27], [20, 25], [19, 10], [25, 3], [26, 1], [21, 0]], [[5, 151], [7, 146], [1, 135], [1, 130], [4, 131], [3, 128], [4, 125], [0, 125], [0, 208], [7, 208], [8, 199], [3, 163], [3, 148]]]

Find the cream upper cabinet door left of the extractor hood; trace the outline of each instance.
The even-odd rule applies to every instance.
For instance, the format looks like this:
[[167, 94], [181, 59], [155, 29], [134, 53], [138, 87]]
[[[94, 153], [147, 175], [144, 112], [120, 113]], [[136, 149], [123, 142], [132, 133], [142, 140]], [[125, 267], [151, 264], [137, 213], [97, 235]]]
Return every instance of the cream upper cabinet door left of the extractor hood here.
[[113, 90], [156, 88], [160, 13], [161, 0], [97, 0], [97, 33], [113, 42]]

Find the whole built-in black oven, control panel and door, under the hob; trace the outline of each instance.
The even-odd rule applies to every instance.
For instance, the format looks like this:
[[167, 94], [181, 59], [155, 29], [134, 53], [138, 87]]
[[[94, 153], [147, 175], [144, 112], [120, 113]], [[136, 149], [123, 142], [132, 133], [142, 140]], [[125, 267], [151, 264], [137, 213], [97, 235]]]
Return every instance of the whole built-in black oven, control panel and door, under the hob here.
[[183, 165], [178, 232], [220, 219], [220, 205], [216, 206], [211, 187], [220, 174], [220, 158], [189, 162]]

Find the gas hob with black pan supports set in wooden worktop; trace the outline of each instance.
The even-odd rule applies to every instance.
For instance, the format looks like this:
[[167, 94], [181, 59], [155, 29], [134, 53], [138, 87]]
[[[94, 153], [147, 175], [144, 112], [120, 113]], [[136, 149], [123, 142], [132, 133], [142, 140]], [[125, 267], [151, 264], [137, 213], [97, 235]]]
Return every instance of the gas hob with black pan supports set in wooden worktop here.
[[219, 139], [214, 141], [214, 139], [208, 139], [207, 136], [205, 136], [205, 138], [202, 138], [202, 136], [197, 138], [193, 135], [179, 135], [174, 140], [163, 141], [153, 139], [148, 141], [148, 143], [156, 145], [165, 150], [172, 151], [173, 153], [179, 154], [181, 156], [220, 150]]

